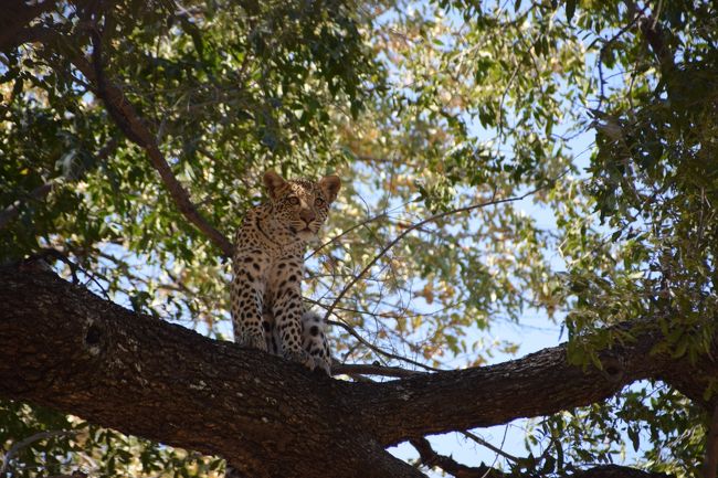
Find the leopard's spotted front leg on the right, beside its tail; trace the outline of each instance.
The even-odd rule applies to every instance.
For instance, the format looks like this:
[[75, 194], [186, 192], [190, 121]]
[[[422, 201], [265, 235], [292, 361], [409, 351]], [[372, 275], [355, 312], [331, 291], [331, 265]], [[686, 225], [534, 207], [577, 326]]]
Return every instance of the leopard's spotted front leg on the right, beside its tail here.
[[287, 273], [277, 285], [276, 298], [272, 307], [279, 331], [282, 354], [287, 360], [314, 370], [314, 359], [302, 347], [302, 266], [293, 263], [285, 263], [285, 265]]

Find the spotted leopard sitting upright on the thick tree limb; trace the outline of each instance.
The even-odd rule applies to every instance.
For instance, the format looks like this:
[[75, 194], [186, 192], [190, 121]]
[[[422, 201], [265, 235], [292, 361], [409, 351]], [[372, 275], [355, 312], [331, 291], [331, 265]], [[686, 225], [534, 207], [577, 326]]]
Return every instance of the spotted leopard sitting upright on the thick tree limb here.
[[263, 176], [267, 200], [250, 209], [234, 236], [230, 293], [234, 341], [331, 374], [327, 325], [302, 297], [304, 255], [341, 187]]

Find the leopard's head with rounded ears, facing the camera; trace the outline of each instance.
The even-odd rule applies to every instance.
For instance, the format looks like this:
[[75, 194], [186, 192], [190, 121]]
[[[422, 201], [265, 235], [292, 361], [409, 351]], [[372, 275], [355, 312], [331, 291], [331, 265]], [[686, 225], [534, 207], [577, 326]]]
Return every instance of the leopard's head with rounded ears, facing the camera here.
[[274, 171], [264, 173], [264, 184], [272, 204], [273, 219], [292, 235], [307, 241], [327, 219], [329, 205], [337, 199], [341, 181], [325, 176], [319, 181], [285, 180]]

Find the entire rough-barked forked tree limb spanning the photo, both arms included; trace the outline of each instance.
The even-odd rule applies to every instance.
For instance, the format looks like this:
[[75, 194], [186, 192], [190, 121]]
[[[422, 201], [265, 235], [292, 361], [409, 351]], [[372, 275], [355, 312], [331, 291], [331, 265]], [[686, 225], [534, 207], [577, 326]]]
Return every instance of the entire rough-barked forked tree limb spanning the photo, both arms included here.
[[130, 312], [51, 273], [0, 268], [1, 396], [218, 454], [252, 477], [421, 476], [384, 447], [585, 405], [644, 378], [699, 390], [705, 378], [687, 364], [645, 359], [656, 340], [645, 333], [604, 354], [604, 371], [568, 364], [558, 347], [349, 383]]

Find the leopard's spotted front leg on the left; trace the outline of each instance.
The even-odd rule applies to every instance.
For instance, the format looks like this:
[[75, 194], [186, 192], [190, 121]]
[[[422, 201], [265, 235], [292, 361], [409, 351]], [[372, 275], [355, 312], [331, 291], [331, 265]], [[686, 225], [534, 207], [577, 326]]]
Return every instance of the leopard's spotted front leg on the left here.
[[266, 352], [267, 344], [262, 326], [265, 264], [266, 262], [256, 254], [237, 253], [233, 264], [231, 301], [234, 341], [241, 346]]

